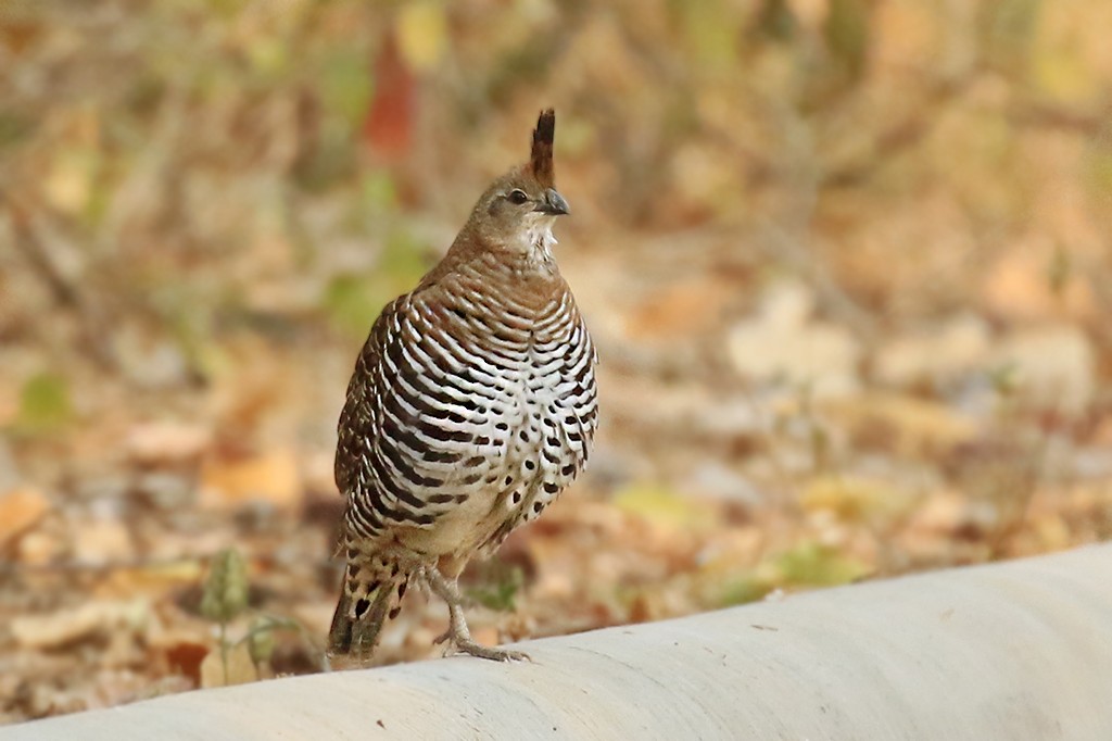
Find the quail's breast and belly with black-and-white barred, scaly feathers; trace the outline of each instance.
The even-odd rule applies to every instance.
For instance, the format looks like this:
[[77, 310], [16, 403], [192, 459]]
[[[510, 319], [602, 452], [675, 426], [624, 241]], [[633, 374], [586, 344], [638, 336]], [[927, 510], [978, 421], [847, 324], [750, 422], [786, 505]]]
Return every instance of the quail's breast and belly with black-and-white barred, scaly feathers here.
[[417, 526], [394, 528], [404, 545], [474, 553], [539, 514], [583, 467], [594, 350], [569, 295], [535, 309], [489, 295], [413, 308], [383, 355], [385, 434], [370, 467], [395, 506], [420, 502]]

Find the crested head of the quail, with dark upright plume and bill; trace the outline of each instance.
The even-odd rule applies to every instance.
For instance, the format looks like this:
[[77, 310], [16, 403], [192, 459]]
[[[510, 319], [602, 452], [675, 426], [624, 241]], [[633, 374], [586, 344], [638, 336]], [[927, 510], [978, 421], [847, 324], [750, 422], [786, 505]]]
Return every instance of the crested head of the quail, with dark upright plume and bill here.
[[569, 213], [555, 186], [555, 111], [540, 111], [529, 161], [495, 180], [475, 205], [465, 230], [487, 248], [550, 259], [553, 224]]

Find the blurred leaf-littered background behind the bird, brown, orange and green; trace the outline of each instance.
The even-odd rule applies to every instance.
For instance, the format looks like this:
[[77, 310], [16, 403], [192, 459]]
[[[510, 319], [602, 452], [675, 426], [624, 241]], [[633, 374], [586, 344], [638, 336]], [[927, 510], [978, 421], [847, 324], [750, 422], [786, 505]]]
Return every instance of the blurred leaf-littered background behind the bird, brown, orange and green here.
[[356, 353], [548, 106], [603, 427], [469, 570], [480, 640], [1108, 539], [1109, 28], [0, 0], [0, 722], [321, 670]]

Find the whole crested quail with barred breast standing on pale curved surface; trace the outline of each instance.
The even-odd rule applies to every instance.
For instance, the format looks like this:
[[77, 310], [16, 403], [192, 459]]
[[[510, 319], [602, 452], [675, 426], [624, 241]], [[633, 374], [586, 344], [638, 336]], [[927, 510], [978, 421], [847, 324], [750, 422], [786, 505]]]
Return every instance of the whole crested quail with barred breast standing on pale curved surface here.
[[598, 426], [598, 356], [553, 255], [556, 113], [529, 159], [494, 180], [441, 260], [386, 305], [337, 424], [344, 583], [329, 652], [369, 659], [406, 590], [448, 606], [446, 652], [476, 642], [458, 577], [537, 517], [584, 470]]

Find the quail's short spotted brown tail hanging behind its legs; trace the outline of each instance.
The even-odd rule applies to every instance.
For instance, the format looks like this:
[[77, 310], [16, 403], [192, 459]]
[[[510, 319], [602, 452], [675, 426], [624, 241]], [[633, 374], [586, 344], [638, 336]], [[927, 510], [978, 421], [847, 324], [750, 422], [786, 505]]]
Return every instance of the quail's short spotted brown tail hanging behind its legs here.
[[348, 559], [332, 626], [328, 631], [331, 653], [369, 656], [387, 618], [401, 609], [409, 575], [380, 559]]

